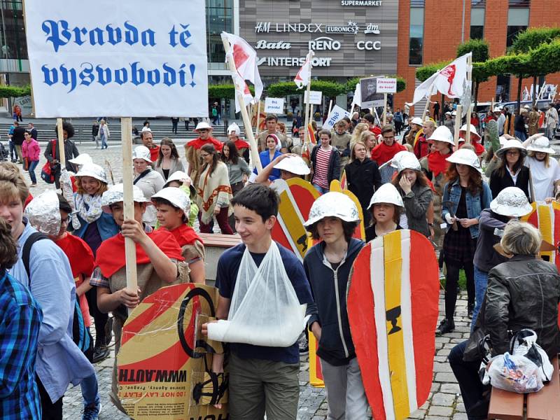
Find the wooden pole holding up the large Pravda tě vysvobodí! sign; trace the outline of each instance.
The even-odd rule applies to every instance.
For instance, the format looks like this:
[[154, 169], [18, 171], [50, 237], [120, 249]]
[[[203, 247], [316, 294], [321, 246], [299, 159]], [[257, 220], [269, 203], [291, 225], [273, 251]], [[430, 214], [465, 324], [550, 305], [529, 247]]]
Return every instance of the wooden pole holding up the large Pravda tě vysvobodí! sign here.
[[[120, 132], [123, 137], [123, 209], [125, 221], [134, 220], [134, 193], [132, 193], [132, 118], [120, 118]], [[127, 289], [132, 293], [138, 290], [136, 244], [125, 238], [127, 262]], [[129, 309], [129, 312], [131, 309]]]

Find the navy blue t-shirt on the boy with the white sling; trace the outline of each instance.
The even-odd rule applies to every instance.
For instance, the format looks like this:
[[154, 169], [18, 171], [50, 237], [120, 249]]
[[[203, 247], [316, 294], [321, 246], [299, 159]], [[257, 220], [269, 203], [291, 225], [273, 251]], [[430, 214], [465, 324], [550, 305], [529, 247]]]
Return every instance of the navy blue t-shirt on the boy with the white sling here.
[[[309, 281], [307, 281], [307, 276], [305, 276], [302, 263], [292, 251], [289, 251], [278, 243], [276, 243], [276, 245], [278, 245], [286, 274], [288, 274], [288, 279], [292, 282], [297, 299], [300, 300], [301, 304], [313, 303], [311, 288], [309, 288]], [[237, 272], [239, 271], [239, 265], [241, 265], [241, 258], [244, 252], [245, 244], [239, 244], [225, 251], [220, 257], [220, 260], [218, 260], [216, 287], [220, 291], [222, 297], [228, 299], [232, 298], [235, 281], [237, 281]], [[257, 267], [260, 266], [265, 255], [264, 253], [251, 253]], [[255, 314], [255, 316], [258, 316], [258, 314]], [[300, 351], [297, 342], [289, 347], [267, 347], [230, 343], [230, 349], [240, 358], [257, 358], [284, 363], [298, 363], [300, 361]]]

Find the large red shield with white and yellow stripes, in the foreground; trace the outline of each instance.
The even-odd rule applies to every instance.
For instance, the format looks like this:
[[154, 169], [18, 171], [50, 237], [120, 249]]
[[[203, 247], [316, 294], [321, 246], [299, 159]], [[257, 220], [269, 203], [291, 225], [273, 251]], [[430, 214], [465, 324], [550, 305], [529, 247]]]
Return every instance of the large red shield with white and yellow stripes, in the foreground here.
[[348, 318], [376, 420], [405, 419], [428, 398], [438, 278], [433, 246], [414, 230], [377, 237], [353, 263]]

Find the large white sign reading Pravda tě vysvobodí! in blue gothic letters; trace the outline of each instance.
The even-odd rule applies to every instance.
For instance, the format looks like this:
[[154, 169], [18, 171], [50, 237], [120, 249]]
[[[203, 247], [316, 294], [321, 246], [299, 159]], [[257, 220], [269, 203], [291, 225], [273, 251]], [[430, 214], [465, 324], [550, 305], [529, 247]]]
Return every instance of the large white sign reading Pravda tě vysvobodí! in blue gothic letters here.
[[203, 0], [26, 0], [37, 117], [207, 117]]

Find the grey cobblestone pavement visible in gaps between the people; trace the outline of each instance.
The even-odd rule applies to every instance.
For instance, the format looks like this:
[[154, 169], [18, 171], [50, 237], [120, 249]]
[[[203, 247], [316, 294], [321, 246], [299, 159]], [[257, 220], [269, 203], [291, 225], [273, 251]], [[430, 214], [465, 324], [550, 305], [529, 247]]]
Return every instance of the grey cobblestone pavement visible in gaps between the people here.
[[[184, 140], [178, 139], [176, 144], [184, 144]], [[42, 147], [43, 144], [41, 145]], [[113, 169], [113, 177], [116, 182], [122, 179], [122, 161], [120, 158], [120, 146], [110, 142], [109, 149], [101, 151], [95, 149], [94, 143], [77, 144], [80, 153], [89, 153], [94, 162], [106, 167], [105, 160], [109, 162]], [[183, 148], [179, 148], [180, 155], [183, 155]], [[38, 177], [38, 186], [31, 188], [33, 195], [43, 192], [48, 186], [39, 178], [39, 172], [45, 162], [45, 158], [41, 154], [41, 162], [36, 169]], [[26, 179], [29, 176], [25, 174]], [[440, 295], [440, 318], [443, 316], [443, 293]], [[434, 355], [434, 377], [432, 390], [428, 402], [419, 410], [412, 414], [412, 419], [426, 420], [466, 420], [465, 409], [461, 396], [459, 395], [458, 385], [454, 374], [451, 372], [449, 363], [447, 363], [447, 355], [450, 349], [458, 342], [468, 337], [469, 320], [466, 318], [466, 296], [461, 293], [457, 302], [457, 311], [455, 317], [456, 330], [444, 337], [436, 337]], [[111, 357], [98, 363], [95, 367], [99, 381], [99, 393], [102, 398], [103, 410], [99, 416], [105, 420], [128, 419], [127, 416], [118, 412], [118, 410], [109, 401], [109, 389], [111, 388], [111, 367], [113, 365], [114, 353]], [[314, 388], [309, 385], [309, 363], [307, 356], [302, 358], [300, 367], [300, 403], [298, 410], [298, 419], [300, 420], [323, 420], [327, 415], [327, 404], [325, 400], [325, 391], [321, 388]], [[69, 388], [64, 396], [64, 419], [80, 419], [81, 410], [83, 409], [80, 387]]]

